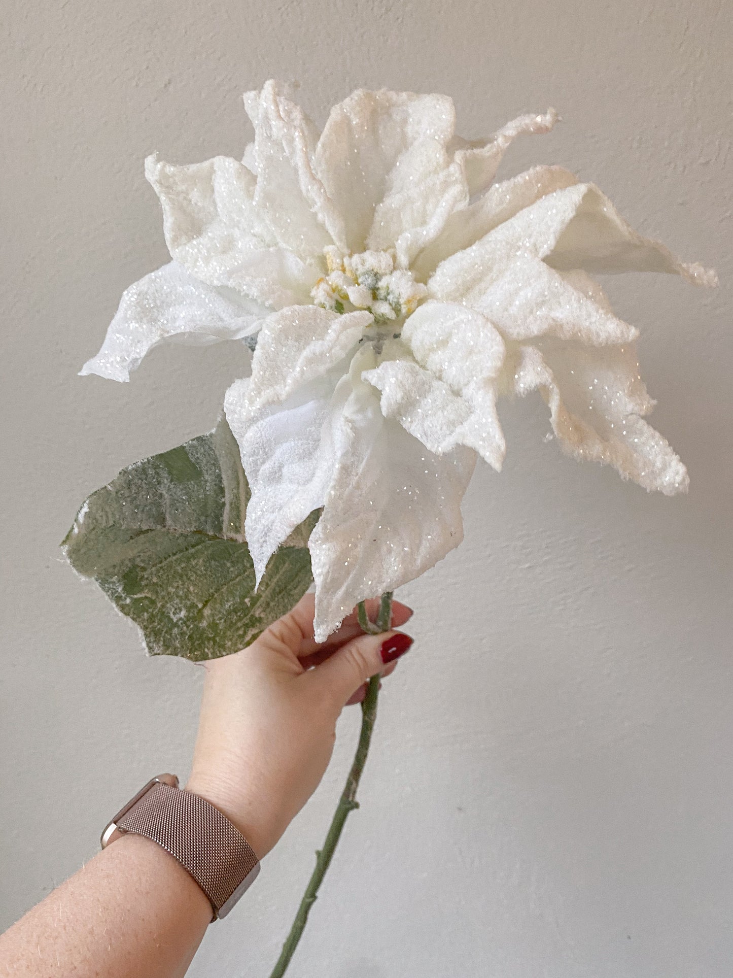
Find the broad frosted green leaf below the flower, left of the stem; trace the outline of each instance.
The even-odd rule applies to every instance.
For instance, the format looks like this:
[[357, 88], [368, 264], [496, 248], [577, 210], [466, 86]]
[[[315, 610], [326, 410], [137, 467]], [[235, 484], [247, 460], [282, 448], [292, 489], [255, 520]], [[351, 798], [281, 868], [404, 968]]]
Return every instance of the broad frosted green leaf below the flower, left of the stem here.
[[254, 642], [312, 583], [313, 512], [280, 547], [255, 593], [244, 542], [249, 488], [226, 420], [123, 468], [92, 493], [62, 547], [143, 630], [152, 655], [194, 661]]

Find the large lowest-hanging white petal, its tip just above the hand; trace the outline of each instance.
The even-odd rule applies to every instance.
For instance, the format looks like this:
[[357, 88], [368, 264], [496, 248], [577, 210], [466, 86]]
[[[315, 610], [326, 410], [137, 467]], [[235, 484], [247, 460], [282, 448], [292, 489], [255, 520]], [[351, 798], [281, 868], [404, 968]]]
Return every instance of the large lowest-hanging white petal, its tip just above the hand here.
[[[369, 359], [370, 357], [370, 359]], [[385, 419], [368, 349], [355, 358], [352, 390], [334, 432], [338, 464], [311, 534], [316, 581], [316, 641], [360, 600], [418, 577], [462, 539], [460, 500], [476, 456], [459, 448], [439, 457]]]

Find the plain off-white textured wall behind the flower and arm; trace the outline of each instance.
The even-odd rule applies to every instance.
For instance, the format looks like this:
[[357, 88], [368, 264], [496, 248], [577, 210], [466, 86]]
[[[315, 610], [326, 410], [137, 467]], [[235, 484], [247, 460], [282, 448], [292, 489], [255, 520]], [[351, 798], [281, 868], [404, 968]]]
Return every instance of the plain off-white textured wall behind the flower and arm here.
[[[119, 467], [211, 427], [233, 344], [75, 372], [165, 260], [143, 157], [237, 155], [240, 93], [297, 78], [323, 121], [360, 85], [453, 95], [461, 131], [554, 105], [503, 174], [558, 162], [716, 292], [608, 283], [642, 330], [687, 498], [647, 496], [507, 406], [467, 541], [404, 589], [418, 642], [385, 690], [354, 815], [293, 978], [717, 978], [733, 971], [733, 30], [718, 0], [104, 0], [5, 6], [0, 926], [96, 850], [145, 779], [185, 775], [200, 671], [147, 659], [57, 544]], [[269, 974], [351, 754], [192, 974]]]

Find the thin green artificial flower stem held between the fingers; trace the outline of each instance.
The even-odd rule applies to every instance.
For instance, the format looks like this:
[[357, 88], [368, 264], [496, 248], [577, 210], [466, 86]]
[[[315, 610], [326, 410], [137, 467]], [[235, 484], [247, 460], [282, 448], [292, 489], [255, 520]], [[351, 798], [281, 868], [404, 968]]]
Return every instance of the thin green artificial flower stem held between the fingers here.
[[[363, 631], [370, 635], [377, 635], [379, 632], [386, 632], [389, 629], [392, 620], [392, 592], [388, 591], [382, 595], [382, 600], [379, 605], [379, 614], [375, 623], [369, 621], [367, 609], [364, 606], [364, 601], [360, 602], [358, 613], [359, 624]], [[346, 785], [341, 792], [341, 797], [338, 801], [338, 805], [336, 806], [336, 811], [328, 828], [328, 834], [325, 836], [323, 849], [320, 849], [316, 853], [316, 868], [313, 870], [308, 886], [306, 887], [305, 894], [303, 895], [303, 899], [300, 901], [300, 906], [298, 907], [298, 912], [295, 914], [295, 919], [293, 920], [292, 927], [290, 928], [290, 933], [287, 935], [287, 939], [282, 945], [282, 951], [280, 952], [278, 963], [275, 965], [270, 978], [281, 978], [281, 976], [285, 973], [287, 965], [290, 963], [290, 958], [295, 953], [295, 949], [298, 946], [298, 941], [305, 930], [308, 914], [310, 913], [313, 905], [316, 903], [319, 887], [323, 882], [323, 876], [325, 875], [326, 869], [330, 866], [333, 853], [335, 852], [336, 846], [338, 845], [338, 840], [341, 837], [344, 823], [346, 822], [349, 813], [353, 812], [355, 808], [359, 808], [359, 802], [357, 801], [357, 788], [359, 787], [359, 781], [362, 778], [362, 772], [364, 771], [364, 766], [367, 762], [369, 741], [371, 740], [371, 732], [374, 729], [374, 721], [376, 720], [376, 701], [378, 694], [379, 677], [372, 676], [367, 685], [367, 695], [362, 703], [362, 730], [359, 734], [357, 752], [354, 756], [354, 762], [351, 766], [349, 777], [346, 778]]]

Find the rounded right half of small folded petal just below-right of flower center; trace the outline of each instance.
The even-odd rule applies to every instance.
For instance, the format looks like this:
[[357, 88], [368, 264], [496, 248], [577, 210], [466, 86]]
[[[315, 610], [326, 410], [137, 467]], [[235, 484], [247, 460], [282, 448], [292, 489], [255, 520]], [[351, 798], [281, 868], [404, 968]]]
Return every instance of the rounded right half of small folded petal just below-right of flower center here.
[[496, 378], [504, 343], [483, 315], [453, 302], [425, 302], [407, 319], [402, 340], [417, 363], [442, 380], [470, 409], [463, 444], [501, 468], [505, 442], [496, 416]]

